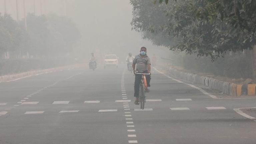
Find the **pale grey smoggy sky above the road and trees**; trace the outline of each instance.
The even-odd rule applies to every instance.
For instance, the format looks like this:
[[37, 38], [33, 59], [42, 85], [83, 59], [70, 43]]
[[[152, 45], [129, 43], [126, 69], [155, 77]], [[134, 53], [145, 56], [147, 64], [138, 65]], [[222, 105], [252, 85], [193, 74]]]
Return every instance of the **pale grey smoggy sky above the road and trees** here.
[[[6, 0], [7, 13], [16, 19], [16, 0]], [[26, 12], [34, 12], [34, 0], [25, 0]], [[131, 31], [132, 6], [129, 0], [66, 0], [67, 17], [80, 29], [82, 38], [78, 46], [86, 56], [90, 52], [115, 53], [125, 57], [128, 52], [139, 53], [142, 46], [148, 53], [163, 50], [141, 39], [141, 34]], [[4, 12], [4, 0], [0, 0]], [[24, 18], [23, 0], [18, 0], [19, 18]], [[35, 14], [55, 13], [65, 15], [64, 0], [35, 0]], [[167, 50], [166, 50], [167, 51]]]

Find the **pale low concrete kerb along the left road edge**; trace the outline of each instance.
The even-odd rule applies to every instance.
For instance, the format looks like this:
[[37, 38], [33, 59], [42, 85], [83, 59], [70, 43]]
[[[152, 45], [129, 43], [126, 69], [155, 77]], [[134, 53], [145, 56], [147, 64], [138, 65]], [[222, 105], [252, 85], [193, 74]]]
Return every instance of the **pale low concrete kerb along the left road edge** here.
[[28, 71], [28, 72], [23, 72], [23, 73], [19, 73], [19, 74], [13, 74], [13, 75], [3, 75], [3, 76], [0, 76], [0, 82], [14, 81], [14, 80], [17, 80], [17, 79], [26, 78], [26, 77], [30, 77], [30, 76], [34, 76], [34, 75], [49, 73], [51, 71], [58, 71], [58, 70], [68, 69], [70, 67], [77, 67], [77, 66], [76, 65], [69, 65], [69, 66], [56, 67], [56, 68], [50, 68], [50, 69]]

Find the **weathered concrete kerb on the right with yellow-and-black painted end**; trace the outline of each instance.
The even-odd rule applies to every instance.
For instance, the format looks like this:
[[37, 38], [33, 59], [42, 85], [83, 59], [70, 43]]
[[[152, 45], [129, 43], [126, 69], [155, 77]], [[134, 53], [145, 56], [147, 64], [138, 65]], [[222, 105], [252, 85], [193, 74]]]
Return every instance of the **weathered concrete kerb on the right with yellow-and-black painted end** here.
[[215, 90], [219, 90], [225, 94], [228, 94], [233, 97], [241, 96], [243, 94], [248, 94], [248, 96], [255, 96], [256, 93], [256, 84], [248, 84], [243, 89], [243, 85], [220, 81], [217, 79], [213, 79], [210, 77], [200, 76], [196, 74], [186, 73], [182, 71], [178, 71], [173, 68], [167, 68], [167, 71], [169, 71], [172, 75], [179, 77], [181, 79], [204, 85], [206, 87], [210, 87]]

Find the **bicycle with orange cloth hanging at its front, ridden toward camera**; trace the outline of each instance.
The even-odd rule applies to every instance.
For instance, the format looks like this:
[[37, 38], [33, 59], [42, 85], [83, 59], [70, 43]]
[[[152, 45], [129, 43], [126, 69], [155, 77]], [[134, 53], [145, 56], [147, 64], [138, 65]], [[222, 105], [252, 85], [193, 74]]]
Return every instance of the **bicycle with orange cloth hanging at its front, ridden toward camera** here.
[[145, 75], [151, 75], [151, 73], [134, 73], [136, 74], [141, 74], [141, 81], [140, 81], [140, 90], [139, 90], [139, 102], [140, 102], [140, 108], [144, 109], [145, 102], [146, 102], [146, 94], [145, 94], [145, 89], [147, 88], [147, 80]]

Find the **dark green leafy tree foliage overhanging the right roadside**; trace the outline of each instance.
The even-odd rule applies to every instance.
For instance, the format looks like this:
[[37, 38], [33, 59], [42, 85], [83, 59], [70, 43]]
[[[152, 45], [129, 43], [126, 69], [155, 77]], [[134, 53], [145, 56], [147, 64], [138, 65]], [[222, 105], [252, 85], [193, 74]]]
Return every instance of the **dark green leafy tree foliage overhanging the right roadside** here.
[[[168, 46], [173, 51], [215, 60], [229, 51], [250, 49], [256, 43], [253, 0], [165, 0], [165, 3], [130, 0], [130, 3], [132, 28], [143, 32], [144, 38], [156, 45]], [[172, 40], [177, 45], [170, 44]]]

